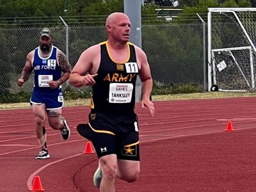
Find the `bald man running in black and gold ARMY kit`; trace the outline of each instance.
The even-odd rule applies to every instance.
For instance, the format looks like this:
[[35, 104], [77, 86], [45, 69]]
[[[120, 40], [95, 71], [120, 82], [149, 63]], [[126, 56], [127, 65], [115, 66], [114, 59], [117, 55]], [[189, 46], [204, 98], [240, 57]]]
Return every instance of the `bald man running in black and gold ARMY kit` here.
[[108, 40], [86, 49], [70, 74], [73, 86], [92, 86], [88, 124], [77, 131], [91, 140], [99, 168], [93, 183], [100, 192], [115, 191], [116, 178], [134, 182], [140, 173], [138, 117], [134, 112], [136, 78], [142, 86], [141, 106], [154, 115], [152, 77], [144, 51], [129, 42], [131, 22], [124, 13], [106, 20]]

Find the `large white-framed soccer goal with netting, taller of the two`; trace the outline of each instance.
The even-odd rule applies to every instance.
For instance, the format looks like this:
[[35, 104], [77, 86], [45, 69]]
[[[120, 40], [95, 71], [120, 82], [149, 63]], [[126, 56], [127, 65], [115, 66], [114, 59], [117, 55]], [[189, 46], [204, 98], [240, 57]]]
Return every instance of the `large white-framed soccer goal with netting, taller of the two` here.
[[255, 88], [256, 8], [208, 9], [208, 91]]

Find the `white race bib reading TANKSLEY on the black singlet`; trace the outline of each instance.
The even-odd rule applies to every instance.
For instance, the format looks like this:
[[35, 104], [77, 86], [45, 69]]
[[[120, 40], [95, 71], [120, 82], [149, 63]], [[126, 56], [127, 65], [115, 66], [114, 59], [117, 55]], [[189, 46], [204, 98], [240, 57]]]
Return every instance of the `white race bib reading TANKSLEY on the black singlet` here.
[[127, 103], [132, 100], [133, 85], [131, 83], [110, 83], [109, 102]]

